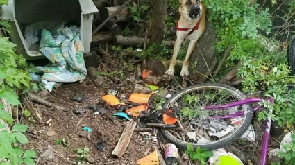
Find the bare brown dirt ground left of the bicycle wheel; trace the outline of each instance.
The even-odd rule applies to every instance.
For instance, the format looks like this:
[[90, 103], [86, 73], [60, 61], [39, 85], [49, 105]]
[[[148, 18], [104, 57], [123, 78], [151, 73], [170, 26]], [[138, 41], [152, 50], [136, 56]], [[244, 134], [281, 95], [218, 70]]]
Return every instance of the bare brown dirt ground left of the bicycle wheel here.
[[[116, 85], [112, 89], [120, 88], [119, 85]], [[39, 164], [71, 164], [78, 158], [76, 148], [85, 146], [90, 148], [90, 157], [94, 158], [93, 164], [135, 164], [137, 159], [144, 157], [144, 152], [149, 149], [149, 142], [137, 133], [133, 134], [126, 153], [121, 159], [112, 157], [112, 150], [119, 141], [125, 122], [112, 116], [115, 109], [110, 107], [106, 109], [106, 114], [95, 115], [93, 110], [81, 108], [84, 105], [99, 103], [101, 96], [106, 94], [105, 90], [108, 91], [108, 89], [96, 87], [90, 79], [84, 80], [83, 83], [63, 84], [58, 89], [54, 89], [51, 95], [46, 98], [63, 107], [69, 107], [68, 110], [53, 110], [37, 106], [42, 112], [43, 121], [52, 119], [50, 125], [26, 123], [29, 125], [28, 139], [30, 144], [28, 144], [28, 148], [37, 150]], [[85, 94], [85, 101], [81, 103], [73, 101], [72, 98], [77, 94]], [[79, 109], [86, 112], [75, 114], [75, 111]], [[81, 119], [83, 120], [81, 121]], [[77, 125], [78, 121], [81, 121], [79, 125]], [[87, 139], [87, 132], [83, 130], [83, 126], [92, 128], [90, 140]], [[56, 135], [52, 136], [50, 134], [52, 131], [56, 132]], [[54, 144], [56, 140], [63, 138], [67, 141], [68, 147]], [[105, 141], [104, 151], [100, 151], [94, 146], [99, 141]]]

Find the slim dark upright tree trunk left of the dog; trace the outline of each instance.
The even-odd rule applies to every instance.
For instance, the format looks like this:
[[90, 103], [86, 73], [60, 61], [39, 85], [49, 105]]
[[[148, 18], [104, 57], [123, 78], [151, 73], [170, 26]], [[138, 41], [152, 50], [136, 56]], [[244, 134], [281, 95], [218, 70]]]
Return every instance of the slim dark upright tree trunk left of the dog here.
[[167, 0], [153, 1], [153, 17], [151, 18], [151, 42], [161, 43], [164, 37], [167, 17]]

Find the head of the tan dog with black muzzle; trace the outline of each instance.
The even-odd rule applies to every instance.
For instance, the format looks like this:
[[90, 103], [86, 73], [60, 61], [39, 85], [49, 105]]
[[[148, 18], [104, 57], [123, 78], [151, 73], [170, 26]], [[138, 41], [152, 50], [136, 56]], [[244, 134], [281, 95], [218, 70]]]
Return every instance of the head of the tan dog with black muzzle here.
[[201, 0], [179, 0], [180, 15], [185, 19], [199, 19], [203, 10]]

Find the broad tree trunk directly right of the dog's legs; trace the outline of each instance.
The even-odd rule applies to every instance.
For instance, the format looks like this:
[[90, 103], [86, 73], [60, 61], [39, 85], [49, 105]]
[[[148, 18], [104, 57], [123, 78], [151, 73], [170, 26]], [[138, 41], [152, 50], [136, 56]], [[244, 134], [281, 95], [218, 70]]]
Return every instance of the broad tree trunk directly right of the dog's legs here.
[[217, 64], [215, 45], [217, 34], [213, 24], [206, 21], [206, 28], [200, 37], [189, 61], [189, 75], [199, 83], [212, 78], [212, 70]]

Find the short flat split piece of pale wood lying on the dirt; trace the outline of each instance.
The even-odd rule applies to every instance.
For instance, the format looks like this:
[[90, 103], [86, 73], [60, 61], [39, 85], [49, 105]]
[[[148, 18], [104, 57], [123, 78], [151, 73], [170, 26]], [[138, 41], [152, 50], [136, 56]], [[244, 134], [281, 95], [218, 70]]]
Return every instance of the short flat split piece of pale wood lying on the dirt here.
[[136, 127], [136, 124], [137, 124], [136, 121], [128, 121], [123, 133], [121, 134], [121, 137], [118, 141], [117, 146], [112, 151], [112, 155], [115, 155], [117, 157], [123, 156], [123, 154], [125, 153], [129, 145], [129, 142], [134, 132], [134, 129]]

